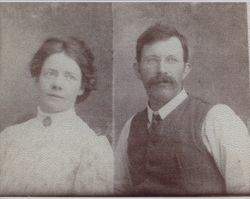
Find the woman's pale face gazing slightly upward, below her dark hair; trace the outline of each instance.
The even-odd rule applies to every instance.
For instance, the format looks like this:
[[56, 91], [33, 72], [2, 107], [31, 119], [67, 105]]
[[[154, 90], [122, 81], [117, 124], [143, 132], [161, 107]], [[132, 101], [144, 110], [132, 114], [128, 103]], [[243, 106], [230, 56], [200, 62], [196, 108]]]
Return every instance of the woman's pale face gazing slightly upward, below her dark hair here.
[[41, 69], [38, 87], [40, 108], [47, 113], [67, 111], [74, 107], [84, 90], [79, 65], [64, 53], [49, 56]]

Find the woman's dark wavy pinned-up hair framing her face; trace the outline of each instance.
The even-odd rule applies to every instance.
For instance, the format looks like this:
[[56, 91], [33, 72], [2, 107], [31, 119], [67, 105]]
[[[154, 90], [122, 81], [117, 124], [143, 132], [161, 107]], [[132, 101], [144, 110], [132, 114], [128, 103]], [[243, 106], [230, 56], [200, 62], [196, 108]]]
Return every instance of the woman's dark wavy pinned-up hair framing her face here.
[[83, 86], [84, 93], [77, 97], [76, 103], [82, 102], [92, 90], [96, 89], [97, 83], [96, 68], [93, 65], [94, 55], [84, 41], [75, 37], [65, 39], [53, 37], [45, 40], [31, 60], [30, 73], [32, 77], [39, 78], [45, 60], [55, 53], [62, 52], [73, 59], [81, 69], [81, 86]]

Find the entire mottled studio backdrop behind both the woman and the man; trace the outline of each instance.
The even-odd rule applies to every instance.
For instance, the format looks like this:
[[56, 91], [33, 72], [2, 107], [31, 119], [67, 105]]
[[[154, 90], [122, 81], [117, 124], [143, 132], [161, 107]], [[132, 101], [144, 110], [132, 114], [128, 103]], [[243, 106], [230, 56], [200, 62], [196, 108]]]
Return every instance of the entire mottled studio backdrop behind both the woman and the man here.
[[228, 104], [250, 124], [245, 3], [0, 3], [0, 130], [36, 112], [28, 64], [42, 42], [73, 35], [91, 47], [98, 69], [98, 90], [77, 112], [94, 130], [111, 132], [113, 86], [118, 137], [146, 104], [132, 65], [136, 39], [156, 21], [187, 36], [193, 69], [186, 90]]

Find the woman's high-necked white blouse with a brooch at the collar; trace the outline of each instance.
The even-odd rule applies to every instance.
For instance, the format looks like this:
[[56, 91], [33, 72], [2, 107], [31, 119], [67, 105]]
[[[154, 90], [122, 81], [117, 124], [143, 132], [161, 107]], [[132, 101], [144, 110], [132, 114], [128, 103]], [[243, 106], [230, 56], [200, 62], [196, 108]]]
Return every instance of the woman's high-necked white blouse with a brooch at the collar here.
[[[44, 125], [49, 116], [51, 123]], [[45, 122], [46, 123], [46, 122]], [[0, 196], [113, 192], [113, 153], [74, 110], [45, 114], [0, 134]]]

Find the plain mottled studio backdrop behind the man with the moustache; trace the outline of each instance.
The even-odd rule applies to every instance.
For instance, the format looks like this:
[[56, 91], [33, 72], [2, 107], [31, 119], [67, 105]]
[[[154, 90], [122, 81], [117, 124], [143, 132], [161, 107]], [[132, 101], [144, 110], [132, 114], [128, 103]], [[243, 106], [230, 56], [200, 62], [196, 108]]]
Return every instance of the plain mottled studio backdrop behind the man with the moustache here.
[[133, 71], [136, 39], [150, 25], [175, 26], [188, 40], [193, 68], [185, 88], [249, 118], [247, 6], [245, 3], [113, 3], [116, 138], [125, 121], [146, 105]]

